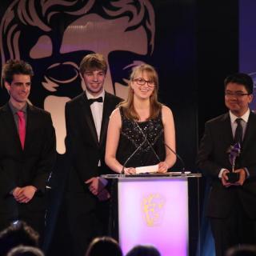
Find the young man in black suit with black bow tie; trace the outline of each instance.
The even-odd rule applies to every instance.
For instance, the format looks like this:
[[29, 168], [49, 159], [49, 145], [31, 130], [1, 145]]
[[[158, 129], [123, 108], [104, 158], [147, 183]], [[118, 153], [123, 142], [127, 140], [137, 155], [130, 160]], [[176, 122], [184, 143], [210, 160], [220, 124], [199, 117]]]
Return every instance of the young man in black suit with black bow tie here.
[[66, 150], [71, 169], [67, 185], [67, 217], [76, 255], [86, 252], [92, 238], [107, 234], [109, 190], [101, 174], [109, 117], [121, 101], [103, 89], [107, 65], [101, 54], [88, 54], [80, 64], [86, 90], [66, 103]]

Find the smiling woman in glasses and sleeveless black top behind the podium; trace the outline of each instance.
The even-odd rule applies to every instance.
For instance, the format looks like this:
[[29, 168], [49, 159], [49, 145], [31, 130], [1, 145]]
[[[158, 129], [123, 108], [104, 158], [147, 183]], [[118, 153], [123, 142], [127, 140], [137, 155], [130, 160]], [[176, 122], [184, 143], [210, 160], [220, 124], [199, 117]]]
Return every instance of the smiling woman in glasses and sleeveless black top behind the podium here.
[[110, 115], [106, 164], [118, 174], [165, 173], [174, 166], [173, 114], [158, 102], [158, 74], [153, 66], [134, 67], [126, 101]]

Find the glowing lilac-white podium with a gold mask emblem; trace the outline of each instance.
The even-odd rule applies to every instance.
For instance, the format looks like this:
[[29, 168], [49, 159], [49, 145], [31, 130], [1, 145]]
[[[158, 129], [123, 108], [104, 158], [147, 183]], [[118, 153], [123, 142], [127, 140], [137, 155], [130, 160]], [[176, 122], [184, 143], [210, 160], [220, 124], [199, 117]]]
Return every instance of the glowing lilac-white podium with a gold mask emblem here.
[[[113, 180], [111, 235], [118, 239], [123, 254], [138, 244], [146, 244], [158, 248], [162, 256], [189, 255], [189, 184], [192, 180], [197, 183], [201, 174], [102, 177]], [[190, 222], [199, 220], [190, 218]]]

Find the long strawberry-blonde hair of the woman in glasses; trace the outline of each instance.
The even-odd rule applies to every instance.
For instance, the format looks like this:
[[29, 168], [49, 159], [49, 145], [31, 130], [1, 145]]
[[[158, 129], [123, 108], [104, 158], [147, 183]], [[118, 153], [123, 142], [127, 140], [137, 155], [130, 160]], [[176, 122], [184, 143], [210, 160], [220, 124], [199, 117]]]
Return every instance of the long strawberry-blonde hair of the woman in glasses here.
[[139, 120], [138, 113], [134, 109], [134, 90], [131, 88], [130, 83], [138, 77], [138, 74], [143, 74], [146, 72], [150, 81], [154, 82], [154, 91], [150, 95], [150, 117], [149, 119], [157, 118], [161, 109], [162, 104], [158, 102], [158, 73], [153, 66], [149, 64], [142, 64], [135, 66], [132, 73], [130, 74], [129, 90], [128, 97], [126, 101], [121, 102], [118, 106], [121, 106], [123, 109], [123, 114], [126, 118], [132, 120]]

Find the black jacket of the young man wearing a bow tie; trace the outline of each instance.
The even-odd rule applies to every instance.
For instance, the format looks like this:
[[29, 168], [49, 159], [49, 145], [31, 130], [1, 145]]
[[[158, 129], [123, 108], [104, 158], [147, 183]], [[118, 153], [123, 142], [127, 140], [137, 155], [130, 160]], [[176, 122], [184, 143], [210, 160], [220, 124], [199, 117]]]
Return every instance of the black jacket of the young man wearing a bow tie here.
[[[110, 114], [119, 102], [121, 98], [105, 93], [99, 142], [85, 92], [66, 103], [66, 150], [72, 165], [67, 190], [71, 194], [86, 196], [86, 207], [90, 202], [95, 203], [95, 197], [87, 190], [84, 182], [89, 178], [111, 173], [104, 160], [106, 133]], [[98, 160], [102, 164], [100, 172]]]

